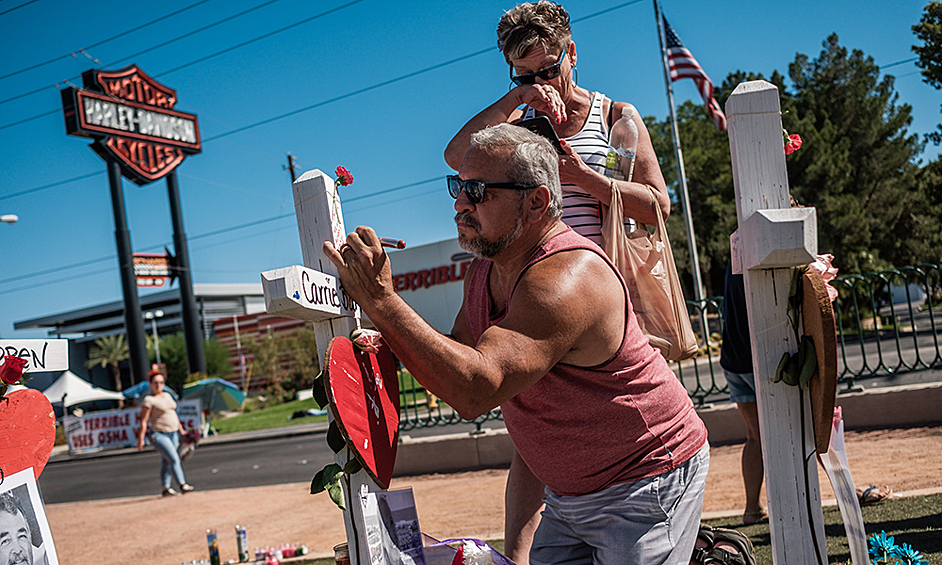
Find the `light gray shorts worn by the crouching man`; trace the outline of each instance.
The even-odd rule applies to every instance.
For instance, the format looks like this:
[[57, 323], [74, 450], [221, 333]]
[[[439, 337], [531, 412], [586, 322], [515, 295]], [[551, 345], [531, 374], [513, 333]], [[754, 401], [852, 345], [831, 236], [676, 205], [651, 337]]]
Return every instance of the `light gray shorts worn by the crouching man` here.
[[532, 565], [686, 564], [700, 527], [710, 445], [673, 471], [582, 496], [546, 489]]

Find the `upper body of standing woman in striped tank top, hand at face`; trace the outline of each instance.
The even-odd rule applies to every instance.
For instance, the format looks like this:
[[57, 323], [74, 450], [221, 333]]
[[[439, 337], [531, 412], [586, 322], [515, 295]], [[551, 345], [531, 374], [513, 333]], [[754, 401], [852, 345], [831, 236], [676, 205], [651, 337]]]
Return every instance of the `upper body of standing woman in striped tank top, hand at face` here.
[[637, 112], [638, 152], [632, 181], [615, 181], [604, 174], [609, 128], [628, 104], [613, 103], [605, 95], [576, 84], [576, 45], [566, 10], [547, 0], [521, 4], [501, 18], [497, 44], [516, 86], [461, 128], [445, 149], [445, 161], [458, 170], [471, 134], [487, 126], [547, 116], [565, 151], [559, 157], [559, 177], [566, 224], [601, 244], [602, 205], [611, 200], [612, 183], [621, 191], [627, 230], [632, 229], [632, 220], [657, 223], [652, 206], [655, 200], [667, 218], [667, 185]]

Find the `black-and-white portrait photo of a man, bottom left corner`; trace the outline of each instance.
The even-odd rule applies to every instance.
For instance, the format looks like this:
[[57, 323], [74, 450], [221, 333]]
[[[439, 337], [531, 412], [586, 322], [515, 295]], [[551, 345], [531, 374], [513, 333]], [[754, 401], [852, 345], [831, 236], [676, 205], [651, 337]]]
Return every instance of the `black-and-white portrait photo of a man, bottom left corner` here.
[[32, 468], [0, 481], [0, 563], [59, 565]]

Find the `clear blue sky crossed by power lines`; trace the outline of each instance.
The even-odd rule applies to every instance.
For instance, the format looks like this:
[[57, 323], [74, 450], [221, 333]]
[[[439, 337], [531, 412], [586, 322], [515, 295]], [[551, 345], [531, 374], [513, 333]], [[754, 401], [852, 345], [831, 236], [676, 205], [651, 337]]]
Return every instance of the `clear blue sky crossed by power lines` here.
[[[301, 262], [286, 152], [301, 171], [343, 165], [353, 173], [342, 192], [348, 228], [370, 225], [410, 246], [454, 237], [442, 151], [507, 90], [494, 30], [513, 5], [0, 0], [0, 76], [53, 60], [0, 79], [0, 214], [20, 217], [0, 224], [0, 337], [42, 337], [13, 323], [121, 299], [105, 164], [88, 140], [66, 136], [57, 85], [81, 85], [75, 77], [99, 64], [136, 63], [176, 89], [176, 108], [198, 115], [203, 139], [203, 152], [177, 169], [193, 280], [257, 282], [261, 271]], [[564, 5], [580, 84], [664, 119], [651, 0]], [[906, 61], [924, 5], [664, 0], [662, 9], [718, 83], [736, 70], [784, 74], [796, 53], [816, 57], [832, 32], [881, 67]], [[90, 57], [78, 52], [85, 47]], [[911, 61], [885, 72], [897, 77], [899, 101], [913, 106], [910, 131], [935, 129], [939, 91]], [[699, 100], [693, 81], [674, 89], [678, 103]], [[923, 159], [938, 153], [930, 146]], [[124, 194], [134, 251], [172, 251], [166, 183], [125, 181]]]

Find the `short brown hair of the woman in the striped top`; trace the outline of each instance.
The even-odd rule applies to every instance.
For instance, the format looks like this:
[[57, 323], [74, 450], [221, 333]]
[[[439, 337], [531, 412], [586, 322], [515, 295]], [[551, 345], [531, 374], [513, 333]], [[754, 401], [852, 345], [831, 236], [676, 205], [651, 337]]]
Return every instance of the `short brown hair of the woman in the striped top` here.
[[519, 4], [497, 23], [497, 47], [508, 65], [525, 57], [537, 45], [555, 47], [562, 53], [570, 41], [569, 12], [548, 0]]

